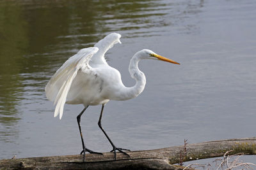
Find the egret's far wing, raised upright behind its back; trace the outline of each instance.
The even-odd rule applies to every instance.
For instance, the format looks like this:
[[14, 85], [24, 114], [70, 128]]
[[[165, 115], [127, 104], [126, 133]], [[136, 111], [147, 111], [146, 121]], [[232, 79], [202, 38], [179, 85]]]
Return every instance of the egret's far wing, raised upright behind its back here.
[[116, 43], [121, 43], [120, 38], [121, 38], [121, 35], [114, 32], [114, 33], [108, 34], [108, 36], [104, 37], [98, 43], [96, 43], [94, 46], [99, 48], [99, 51], [95, 55], [93, 55], [90, 63], [107, 64], [104, 55]]

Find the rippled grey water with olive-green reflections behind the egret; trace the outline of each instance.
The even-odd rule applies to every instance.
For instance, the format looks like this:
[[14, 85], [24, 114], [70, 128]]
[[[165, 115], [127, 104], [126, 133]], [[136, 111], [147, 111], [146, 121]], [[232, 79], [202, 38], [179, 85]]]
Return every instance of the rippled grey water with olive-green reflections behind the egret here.
[[[138, 50], [181, 63], [141, 61], [143, 93], [106, 105], [102, 126], [116, 146], [255, 136], [255, 8], [252, 0], [1, 1], [0, 159], [81, 152], [76, 116], [83, 106], [65, 105], [61, 121], [53, 118], [44, 87], [68, 57], [110, 32], [122, 34], [122, 45], [106, 58], [127, 86], [134, 85], [127, 68]], [[99, 112], [89, 107], [82, 129], [88, 148], [108, 152]]]

